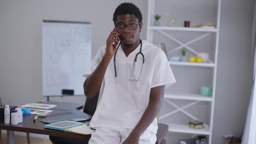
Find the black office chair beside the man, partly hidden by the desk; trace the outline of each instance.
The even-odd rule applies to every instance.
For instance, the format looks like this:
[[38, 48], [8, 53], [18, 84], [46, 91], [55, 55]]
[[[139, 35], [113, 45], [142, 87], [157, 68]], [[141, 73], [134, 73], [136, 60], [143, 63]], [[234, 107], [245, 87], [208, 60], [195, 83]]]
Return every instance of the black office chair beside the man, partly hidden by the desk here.
[[[93, 115], [98, 102], [98, 94], [93, 98], [86, 98], [85, 106], [83, 112], [89, 115]], [[76, 138], [67, 138], [67, 137], [57, 137], [49, 136], [53, 144], [88, 144], [89, 139], [76, 139]]]

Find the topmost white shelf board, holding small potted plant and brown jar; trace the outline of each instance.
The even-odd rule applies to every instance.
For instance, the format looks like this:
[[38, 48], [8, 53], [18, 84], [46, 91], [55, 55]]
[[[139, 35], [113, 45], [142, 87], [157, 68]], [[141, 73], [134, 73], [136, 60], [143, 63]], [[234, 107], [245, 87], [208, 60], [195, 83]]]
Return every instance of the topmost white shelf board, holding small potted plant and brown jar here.
[[152, 30], [177, 30], [195, 32], [217, 32], [216, 28], [197, 28], [197, 27], [169, 27], [169, 26], [150, 26]]

